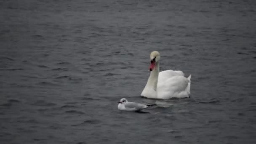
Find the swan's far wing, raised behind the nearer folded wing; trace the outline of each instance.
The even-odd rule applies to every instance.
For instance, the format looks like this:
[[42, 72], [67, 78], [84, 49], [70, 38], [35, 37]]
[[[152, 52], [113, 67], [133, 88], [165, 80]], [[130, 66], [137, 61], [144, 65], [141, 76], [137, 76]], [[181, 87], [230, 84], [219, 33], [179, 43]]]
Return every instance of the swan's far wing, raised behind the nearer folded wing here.
[[159, 72], [157, 85], [159, 85], [159, 83], [163, 83], [165, 80], [173, 76], [184, 76], [184, 73], [182, 71], [174, 70], [165, 70]]

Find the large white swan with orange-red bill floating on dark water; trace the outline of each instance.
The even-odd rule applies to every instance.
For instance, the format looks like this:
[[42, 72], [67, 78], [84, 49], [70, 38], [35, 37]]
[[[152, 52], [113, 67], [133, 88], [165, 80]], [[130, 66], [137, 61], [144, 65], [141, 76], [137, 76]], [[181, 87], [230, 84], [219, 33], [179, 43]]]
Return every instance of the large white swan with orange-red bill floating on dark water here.
[[150, 75], [141, 96], [151, 99], [184, 98], [190, 94], [190, 78], [181, 71], [165, 70], [159, 72], [160, 53], [150, 54]]

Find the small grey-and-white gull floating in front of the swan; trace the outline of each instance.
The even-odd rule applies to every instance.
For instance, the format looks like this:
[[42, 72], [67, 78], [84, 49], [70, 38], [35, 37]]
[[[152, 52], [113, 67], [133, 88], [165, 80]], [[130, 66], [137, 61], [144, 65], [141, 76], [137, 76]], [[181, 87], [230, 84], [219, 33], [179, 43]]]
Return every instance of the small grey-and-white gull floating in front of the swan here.
[[118, 102], [118, 109], [124, 111], [136, 111], [139, 112], [142, 109], [155, 106], [156, 104], [138, 104], [135, 102], [129, 102], [127, 99], [123, 98]]

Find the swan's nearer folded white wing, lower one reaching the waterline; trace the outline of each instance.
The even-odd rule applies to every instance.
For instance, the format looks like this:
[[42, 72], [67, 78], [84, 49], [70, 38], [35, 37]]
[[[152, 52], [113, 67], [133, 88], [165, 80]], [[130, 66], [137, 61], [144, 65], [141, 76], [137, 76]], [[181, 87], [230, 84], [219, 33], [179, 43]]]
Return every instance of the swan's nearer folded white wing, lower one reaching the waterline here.
[[188, 97], [190, 80], [184, 76], [172, 76], [157, 85], [157, 97], [159, 99], [169, 99], [171, 97]]

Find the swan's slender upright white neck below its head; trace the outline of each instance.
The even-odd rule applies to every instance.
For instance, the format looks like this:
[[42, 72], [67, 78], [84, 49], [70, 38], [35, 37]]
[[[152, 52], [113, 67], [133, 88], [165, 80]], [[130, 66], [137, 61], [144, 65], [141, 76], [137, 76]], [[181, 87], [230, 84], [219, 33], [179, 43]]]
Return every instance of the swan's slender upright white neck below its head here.
[[146, 87], [153, 88], [155, 91], [157, 90], [158, 74], [159, 74], [159, 62], [155, 64], [155, 68], [150, 72]]

